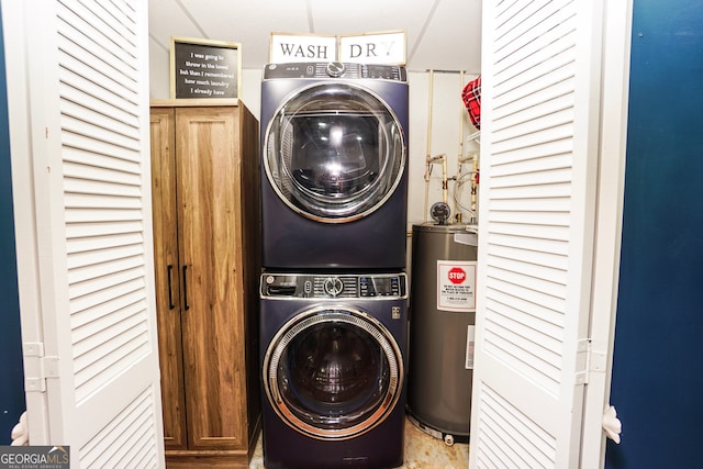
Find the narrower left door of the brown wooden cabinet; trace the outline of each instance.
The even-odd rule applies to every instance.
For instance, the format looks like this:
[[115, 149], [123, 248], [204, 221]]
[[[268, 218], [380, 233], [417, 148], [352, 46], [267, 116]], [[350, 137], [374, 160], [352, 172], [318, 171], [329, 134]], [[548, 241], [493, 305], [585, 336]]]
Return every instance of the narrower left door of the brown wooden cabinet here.
[[152, 109], [152, 204], [161, 402], [166, 449], [187, 447], [176, 224], [175, 113]]

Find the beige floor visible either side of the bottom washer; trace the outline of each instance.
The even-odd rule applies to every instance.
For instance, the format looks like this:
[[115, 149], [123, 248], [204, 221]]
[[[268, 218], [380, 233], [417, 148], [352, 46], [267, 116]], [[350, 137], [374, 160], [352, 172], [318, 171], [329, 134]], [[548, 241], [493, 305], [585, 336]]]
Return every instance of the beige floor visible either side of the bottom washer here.
[[[405, 420], [405, 464], [400, 469], [464, 469], [469, 467], [469, 445], [447, 446]], [[256, 445], [249, 469], [265, 469], [261, 436]]]

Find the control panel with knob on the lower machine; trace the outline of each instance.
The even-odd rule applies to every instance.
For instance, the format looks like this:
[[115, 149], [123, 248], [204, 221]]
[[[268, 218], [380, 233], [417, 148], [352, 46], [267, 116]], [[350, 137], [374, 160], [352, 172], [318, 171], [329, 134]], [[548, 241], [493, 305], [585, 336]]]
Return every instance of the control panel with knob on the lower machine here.
[[390, 299], [408, 297], [405, 273], [264, 273], [261, 298]]

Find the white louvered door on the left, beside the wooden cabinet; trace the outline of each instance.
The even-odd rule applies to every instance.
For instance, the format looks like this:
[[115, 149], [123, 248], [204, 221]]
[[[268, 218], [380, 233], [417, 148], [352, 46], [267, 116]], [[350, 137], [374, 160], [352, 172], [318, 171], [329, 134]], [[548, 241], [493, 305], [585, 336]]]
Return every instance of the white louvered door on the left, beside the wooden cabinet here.
[[30, 443], [164, 467], [146, 2], [2, 8]]

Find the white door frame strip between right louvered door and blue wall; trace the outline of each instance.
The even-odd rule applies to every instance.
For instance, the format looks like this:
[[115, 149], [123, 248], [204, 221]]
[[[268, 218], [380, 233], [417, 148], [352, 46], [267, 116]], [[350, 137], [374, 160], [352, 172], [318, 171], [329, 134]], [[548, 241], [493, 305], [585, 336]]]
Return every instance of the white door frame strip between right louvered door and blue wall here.
[[603, 412], [610, 405], [622, 238], [633, 0], [605, 2], [601, 148], [581, 467], [603, 467]]

